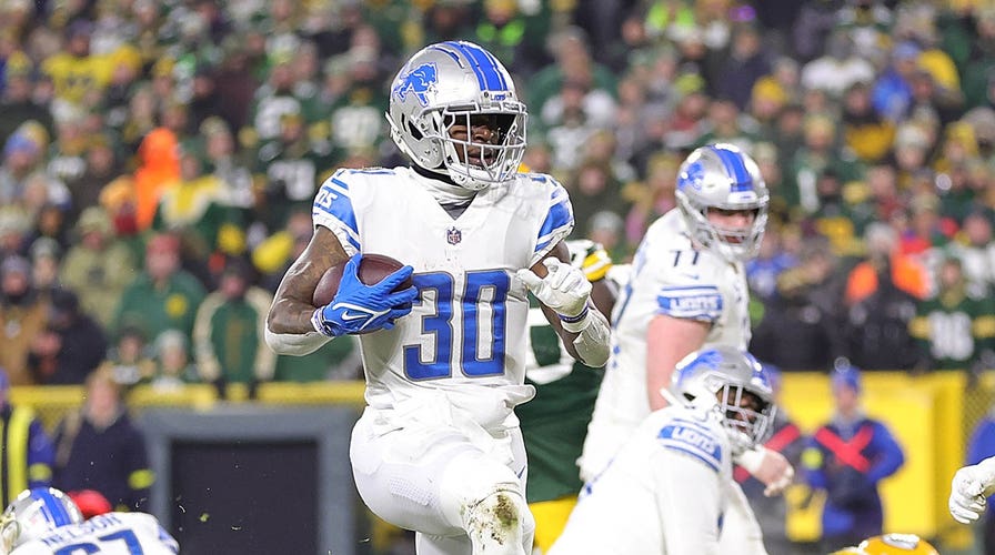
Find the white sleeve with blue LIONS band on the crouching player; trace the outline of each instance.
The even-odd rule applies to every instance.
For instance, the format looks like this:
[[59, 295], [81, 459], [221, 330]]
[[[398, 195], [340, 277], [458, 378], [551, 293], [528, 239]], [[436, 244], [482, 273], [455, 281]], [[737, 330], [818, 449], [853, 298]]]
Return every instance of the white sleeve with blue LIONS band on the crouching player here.
[[694, 422], [672, 421], [657, 434], [652, 468], [665, 553], [718, 553], [722, 444]]

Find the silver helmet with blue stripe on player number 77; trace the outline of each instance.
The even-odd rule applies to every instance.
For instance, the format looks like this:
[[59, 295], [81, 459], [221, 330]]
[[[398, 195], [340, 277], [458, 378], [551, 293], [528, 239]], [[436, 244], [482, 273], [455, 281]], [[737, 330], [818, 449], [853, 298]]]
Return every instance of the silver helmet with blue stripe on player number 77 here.
[[[771, 193], [756, 162], [738, 148], [715, 143], [695, 149], [677, 170], [677, 208], [695, 242], [726, 260], [748, 260], [760, 250]], [[753, 211], [748, 228], [718, 228], [708, 210]]]

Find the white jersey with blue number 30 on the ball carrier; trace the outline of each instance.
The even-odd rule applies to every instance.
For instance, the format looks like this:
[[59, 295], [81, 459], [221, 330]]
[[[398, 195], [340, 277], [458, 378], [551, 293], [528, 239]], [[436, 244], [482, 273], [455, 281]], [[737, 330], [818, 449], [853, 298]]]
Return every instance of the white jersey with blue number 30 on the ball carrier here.
[[360, 336], [366, 402], [456, 384], [524, 383], [524, 284], [531, 268], [573, 229], [566, 191], [543, 174], [517, 174], [476, 194], [452, 218], [408, 168], [340, 170], [314, 200], [315, 225], [345, 252], [414, 268], [419, 297], [392, 330]]

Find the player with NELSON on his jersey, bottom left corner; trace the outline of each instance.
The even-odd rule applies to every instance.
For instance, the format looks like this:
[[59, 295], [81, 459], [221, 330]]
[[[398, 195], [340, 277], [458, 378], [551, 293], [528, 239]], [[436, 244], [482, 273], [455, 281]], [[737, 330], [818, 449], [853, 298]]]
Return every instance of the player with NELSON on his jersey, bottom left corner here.
[[89, 521], [68, 495], [52, 487], [24, 490], [0, 516], [0, 543], [10, 555], [101, 553], [175, 555], [177, 541], [154, 516], [104, 513]]

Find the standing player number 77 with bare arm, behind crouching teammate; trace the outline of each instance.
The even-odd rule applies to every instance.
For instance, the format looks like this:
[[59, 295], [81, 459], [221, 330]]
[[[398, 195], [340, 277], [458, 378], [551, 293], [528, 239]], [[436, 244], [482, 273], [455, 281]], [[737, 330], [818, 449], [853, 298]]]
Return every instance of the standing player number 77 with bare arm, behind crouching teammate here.
[[[756, 162], [731, 144], [702, 147], [681, 164], [675, 194], [677, 208], [646, 231], [612, 313], [612, 355], [581, 457], [585, 481], [666, 405], [660, 391], [677, 361], [703, 347], [750, 343], [743, 261], [760, 248], [770, 200]], [[763, 446], [741, 458], [771, 494], [794, 474]]]

